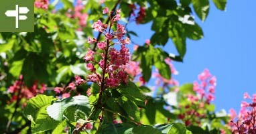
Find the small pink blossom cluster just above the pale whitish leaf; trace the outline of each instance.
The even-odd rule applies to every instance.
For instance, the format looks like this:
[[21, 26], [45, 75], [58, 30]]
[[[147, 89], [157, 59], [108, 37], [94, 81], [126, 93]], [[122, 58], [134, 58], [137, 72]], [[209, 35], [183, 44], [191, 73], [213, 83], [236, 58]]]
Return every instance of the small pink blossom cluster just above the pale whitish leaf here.
[[57, 96], [59, 96], [60, 98], [68, 98], [72, 90], [74, 90], [75, 88], [76, 88], [76, 84], [74, 84], [74, 82], [71, 82], [66, 87], [54, 88], [54, 92], [56, 92]]

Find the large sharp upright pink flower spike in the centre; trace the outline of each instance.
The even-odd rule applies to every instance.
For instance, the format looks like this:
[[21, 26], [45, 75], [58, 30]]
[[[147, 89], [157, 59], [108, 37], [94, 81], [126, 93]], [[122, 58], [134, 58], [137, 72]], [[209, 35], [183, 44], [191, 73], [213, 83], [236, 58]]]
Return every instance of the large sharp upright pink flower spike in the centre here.
[[[111, 17], [113, 11], [109, 11], [106, 7], [103, 9], [103, 14], [110, 17], [110, 23], [103, 23], [98, 20], [92, 24], [94, 31], [99, 31], [105, 36], [105, 40], [97, 41], [95, 38], [88, 38], [89, 44], [97, 44], [97, 48], [101, 53], [94, 52], [88, 48], [84, 60], [87, 70], [91, 74], [86, 76], [86, 80], [76, 76], [76, 83], [94, 82], [99, 86], [114, 87], [121, 83], [127, 83], [128, 75], [125, 72], [125, 66], [129, 63], [130, 53], [125, 45], [130, 43], [129, 38], [125, 38], [125, 27], [117, 21], [120, 19], [121, 10], [117, 9], [115, 15]], [[116, 24], [117, 23], [117, 24]], [[117, 29], [112, 29], [113, 25], [117, 25]], [[113, 48], [115, 44], [120, 44], [120, 50]], [[95, 55], [100, 56], [99, 60], [95, 60]], [[99, 66], [101, 73], [97, 72], [95, 66]]]

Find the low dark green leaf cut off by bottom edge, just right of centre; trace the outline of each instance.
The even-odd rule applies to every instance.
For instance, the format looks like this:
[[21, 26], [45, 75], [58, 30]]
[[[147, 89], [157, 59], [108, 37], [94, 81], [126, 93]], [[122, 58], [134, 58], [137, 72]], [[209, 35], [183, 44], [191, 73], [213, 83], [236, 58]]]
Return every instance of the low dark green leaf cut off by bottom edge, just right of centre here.
[[141, 134], [141, 133], [147, 133], [147, 134], [162, 134], [161, 131], [151, 127], [151, 126], [138, 126], [133, 127], [131, 129], [127, 129], [124, 134]]

